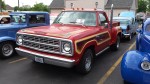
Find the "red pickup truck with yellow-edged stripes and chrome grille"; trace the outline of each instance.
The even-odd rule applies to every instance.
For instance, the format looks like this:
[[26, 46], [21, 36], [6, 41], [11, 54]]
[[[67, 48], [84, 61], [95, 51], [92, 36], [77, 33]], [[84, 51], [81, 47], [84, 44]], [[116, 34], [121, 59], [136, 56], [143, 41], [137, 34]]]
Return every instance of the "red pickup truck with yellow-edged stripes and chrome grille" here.
[[65, 10], [51, 26], [20, 30], [16, 51], [35, 62], [75, 67], [86, 74], [95, 56], [119, 48], [120, 24], [110, 24], [103, 10]]

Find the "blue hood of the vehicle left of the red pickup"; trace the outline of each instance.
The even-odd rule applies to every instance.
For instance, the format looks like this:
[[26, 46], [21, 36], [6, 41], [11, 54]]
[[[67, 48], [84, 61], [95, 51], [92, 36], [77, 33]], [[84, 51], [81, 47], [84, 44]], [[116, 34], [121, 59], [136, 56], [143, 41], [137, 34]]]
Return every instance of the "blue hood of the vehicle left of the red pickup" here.
[[22, 25], [22, 24], [0, 24], [0, 29], [22, 28], [26, 26], [27, 25]]

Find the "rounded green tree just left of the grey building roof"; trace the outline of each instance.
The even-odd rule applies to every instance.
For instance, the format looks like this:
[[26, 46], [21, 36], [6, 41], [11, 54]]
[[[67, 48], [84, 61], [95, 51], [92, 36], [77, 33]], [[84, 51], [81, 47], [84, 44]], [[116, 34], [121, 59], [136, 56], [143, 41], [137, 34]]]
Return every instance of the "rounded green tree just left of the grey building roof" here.
[[43, 3], [38, 3], [38, 4], [35, 4], [32, 7], [32, 10], [33, 11], [46, 11], [46, 12], [49, 12], [50, 9], [47, 5], [44, 5]]

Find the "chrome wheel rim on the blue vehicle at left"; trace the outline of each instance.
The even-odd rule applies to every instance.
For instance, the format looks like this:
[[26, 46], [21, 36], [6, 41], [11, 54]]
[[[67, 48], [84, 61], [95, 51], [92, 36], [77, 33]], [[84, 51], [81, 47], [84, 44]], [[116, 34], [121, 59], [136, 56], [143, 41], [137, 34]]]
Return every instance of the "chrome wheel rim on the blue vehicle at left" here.
[[13, 53], [13, 47], [11, 44], [4, 44], [2, 47], [2, 53], [4, 56], [9, 57]]

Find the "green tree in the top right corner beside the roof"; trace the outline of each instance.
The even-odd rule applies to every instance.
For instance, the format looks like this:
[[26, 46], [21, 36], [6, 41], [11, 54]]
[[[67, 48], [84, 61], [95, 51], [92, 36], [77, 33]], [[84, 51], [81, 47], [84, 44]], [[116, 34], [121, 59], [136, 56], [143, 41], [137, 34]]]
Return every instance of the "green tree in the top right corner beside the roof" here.
[[138, 10], [137, 12], [146, 12], [147, 9], [147, 1], [138, 0]]

